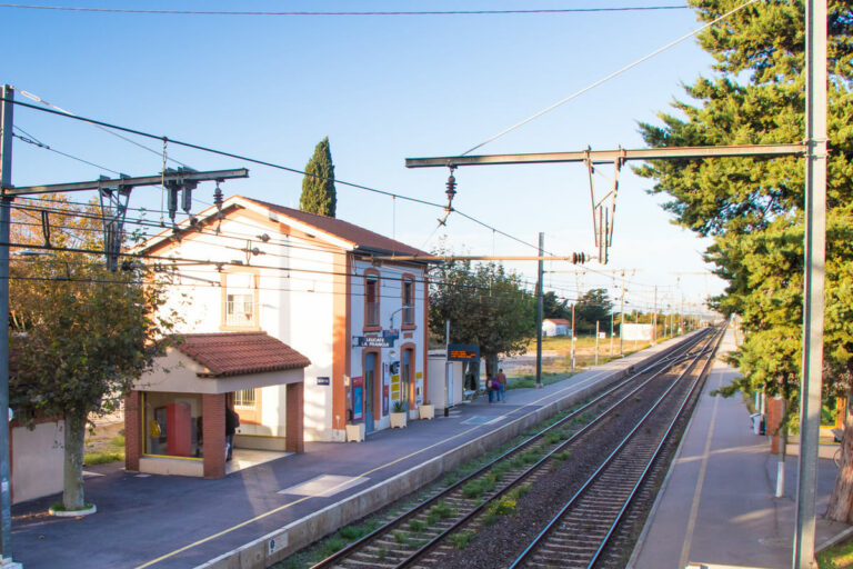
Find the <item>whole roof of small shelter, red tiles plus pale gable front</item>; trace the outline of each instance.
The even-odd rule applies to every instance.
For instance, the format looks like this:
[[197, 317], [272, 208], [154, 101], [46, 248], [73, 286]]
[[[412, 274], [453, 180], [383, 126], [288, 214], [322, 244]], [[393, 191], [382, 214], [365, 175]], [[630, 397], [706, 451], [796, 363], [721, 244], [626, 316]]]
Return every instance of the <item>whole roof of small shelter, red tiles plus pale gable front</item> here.
[[183, 335], [140, 377], [139, 391], [228, 393], [298, 383], [311, 361], [265, 332]]

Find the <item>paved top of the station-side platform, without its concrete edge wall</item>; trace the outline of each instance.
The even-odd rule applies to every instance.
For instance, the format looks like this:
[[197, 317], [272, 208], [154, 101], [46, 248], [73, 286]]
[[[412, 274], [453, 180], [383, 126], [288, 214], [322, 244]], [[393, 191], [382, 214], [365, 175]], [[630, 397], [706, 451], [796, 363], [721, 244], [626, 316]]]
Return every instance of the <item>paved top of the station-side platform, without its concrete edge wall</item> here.
[[[88, 468], [101, 475], [86, 479], [87, 501], [98, 513], [52, 518], [47, 509], [58, 495], [16, 505], [12, 557], [26, 569], [195, 567], [620, 373], [666, 343], [543, 389], [508, 391], [505, 405], [480, 398], [449, 418], [410, 421], [364, 442], [308, 442], [302, 455], [220, 480], [140, 476], [117, 463]], [[338, 478], [319, 478], [324, 476]]]

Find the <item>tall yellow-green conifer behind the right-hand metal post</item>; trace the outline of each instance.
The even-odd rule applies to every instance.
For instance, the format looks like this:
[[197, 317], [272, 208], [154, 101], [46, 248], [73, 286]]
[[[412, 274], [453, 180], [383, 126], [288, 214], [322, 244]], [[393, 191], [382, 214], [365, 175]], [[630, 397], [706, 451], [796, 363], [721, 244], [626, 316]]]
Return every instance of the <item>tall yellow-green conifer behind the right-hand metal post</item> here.
[[[710, 21], [739, 0], [690, 0]], [[850, 391], [850, 286], [853, 250], [853, 11], [850, 0], [829, 2], [829, 182], [825, 313], [825, 388]], [[695, 102], [675, 101], [679, 116], [661, 113], [662, 127], [641, 123], [650, 146], [794, 142], [804, 137], [804, 8], [801, 0], [751, 4], [700, 36], [715, 74], [685, 90]], [[653, 161], [639, 168], [654, 178], [652, 192], [676, 221], [714, 238], [706, 260], [729, 284], [714, 299], [725, 315], [743, 317], [746, 338], [734, 355], [743, 378], [725, 391], [763, 389], [797, 406], [803, 286], [803, 162], [795, 158], [726, 158]], [[853, 397], [849, 398], [853, 401]], [[853, 405], [853, 403], [850, 403]], [[829, 516], [853, 521], [853, 423], [845, 428], [842, 468]]]

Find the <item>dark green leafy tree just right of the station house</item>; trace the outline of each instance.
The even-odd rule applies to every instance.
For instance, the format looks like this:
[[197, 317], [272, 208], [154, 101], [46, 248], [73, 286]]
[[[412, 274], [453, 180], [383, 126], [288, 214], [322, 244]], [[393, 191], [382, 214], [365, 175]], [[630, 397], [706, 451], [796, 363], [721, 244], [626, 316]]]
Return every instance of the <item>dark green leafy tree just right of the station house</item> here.
[[524, 290], [521, 277], [503, 266], [448, 261], [435, 270], [430, 288], [430, 328], [450, 341], [480, 345], [486, 371], [498, 369], [498, 356], [522, 353], [535, 335], [535, 298]]

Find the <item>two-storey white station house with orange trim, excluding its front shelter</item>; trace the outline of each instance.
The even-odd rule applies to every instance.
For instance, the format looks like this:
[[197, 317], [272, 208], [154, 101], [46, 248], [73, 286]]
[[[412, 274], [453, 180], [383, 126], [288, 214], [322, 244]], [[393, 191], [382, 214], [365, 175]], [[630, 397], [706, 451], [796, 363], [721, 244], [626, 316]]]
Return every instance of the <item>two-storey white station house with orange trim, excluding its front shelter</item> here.
[[[395, 401], [429, 401], [428, 254], [341, 219], [233, 196], [147, 241], [172, 267], [179, 333], [264, 332], [304, 356], [304, 440], [344, 441], [345, 426], [390, 426]], [[382, 258], [382, 259], [380, 259]], [[173, 259], [170, 261], [169, 259]], [[240, 433], [284, 438], [283, 385], [234, 390]], [[153, 427], [153, 426], [152, 426]], [[235, 442], [235, 447], [239, 447]]]

